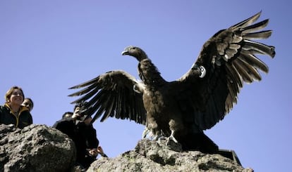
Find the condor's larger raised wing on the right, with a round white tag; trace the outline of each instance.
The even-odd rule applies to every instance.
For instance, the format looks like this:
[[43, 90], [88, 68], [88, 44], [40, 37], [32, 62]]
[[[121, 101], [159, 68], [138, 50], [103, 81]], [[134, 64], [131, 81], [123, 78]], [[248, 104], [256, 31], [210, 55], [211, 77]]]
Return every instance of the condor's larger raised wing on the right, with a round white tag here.
[[[193, 67], [178, 79], [190, 89], [181, 94], [188, 93], [185, 97], [192, 95], [188, 102], [195, 102], [193, 114], [185, 114], [188, 115], [185, 119], [194, 120], [200, 129], [211, 128], [224, 118], [237, 102], [244, 82], [260, 81], [259, 70], [268, 72], [267, 65], [255, 55], [269, 55], [273, 58], [274, 46], [255, 40], [267, 39], [272, 31], [262, 31], [269, 20], [254, 24], [259, 17], [260, 13], [257, 13], [214, 34], [202, 47]], [[205, 77], [198, 77], [199, 67], [205, 68]]]

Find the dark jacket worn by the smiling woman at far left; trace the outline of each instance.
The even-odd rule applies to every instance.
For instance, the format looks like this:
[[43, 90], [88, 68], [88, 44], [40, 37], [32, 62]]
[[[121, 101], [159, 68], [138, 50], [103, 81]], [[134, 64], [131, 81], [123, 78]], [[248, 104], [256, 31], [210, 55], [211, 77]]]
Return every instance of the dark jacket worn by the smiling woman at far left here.
[[0, 124], [14, 124], [17, 128], [24, 128], [32, 124], [32, 115], [27, 107], [20, 106], [18, 116], [14, 115], [7, 104], [0, 106]]

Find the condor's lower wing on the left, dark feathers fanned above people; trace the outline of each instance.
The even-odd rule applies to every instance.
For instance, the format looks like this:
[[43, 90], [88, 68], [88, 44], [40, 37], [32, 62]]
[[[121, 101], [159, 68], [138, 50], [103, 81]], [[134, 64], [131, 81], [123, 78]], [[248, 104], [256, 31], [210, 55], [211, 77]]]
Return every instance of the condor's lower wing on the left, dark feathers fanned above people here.
[[[102, 116], [101, 121], [108, 117], [130, 119], [139, 124], [145, 124], [146, 112], [142, 102], [142, 83], [135, 80], [130, 74], [121, 70], [101, 74], [95, 79], [73, 86], [83, 88], [68, 96], [81, 95], [71, 102], [87, 102], [85, 114], [95, 116], [92, 122]], [[136, 88], [138, 91], [134, 91]]]

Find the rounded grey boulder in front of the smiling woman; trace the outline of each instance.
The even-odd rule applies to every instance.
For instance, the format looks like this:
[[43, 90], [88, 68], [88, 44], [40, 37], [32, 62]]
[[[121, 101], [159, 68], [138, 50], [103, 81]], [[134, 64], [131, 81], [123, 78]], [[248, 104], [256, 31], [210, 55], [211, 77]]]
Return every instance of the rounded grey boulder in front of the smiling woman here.
[[0, 171], [68, 171], [74, 163], [74, 143], [60, 131], [0, 125]]

